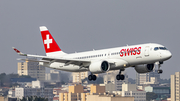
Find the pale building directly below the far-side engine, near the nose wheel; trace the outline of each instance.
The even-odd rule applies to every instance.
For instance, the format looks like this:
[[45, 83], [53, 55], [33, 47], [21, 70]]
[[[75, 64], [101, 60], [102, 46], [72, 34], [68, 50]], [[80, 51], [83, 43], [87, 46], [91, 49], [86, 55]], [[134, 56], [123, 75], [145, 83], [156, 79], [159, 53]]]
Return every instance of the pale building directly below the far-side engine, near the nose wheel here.
[[160, 74], [158, 70], [153, 70], [149, 73], [136, 73], [136, 84], [137, 85], [147, 85], [147, 84], [159, 84]]

